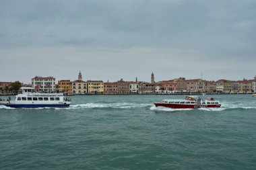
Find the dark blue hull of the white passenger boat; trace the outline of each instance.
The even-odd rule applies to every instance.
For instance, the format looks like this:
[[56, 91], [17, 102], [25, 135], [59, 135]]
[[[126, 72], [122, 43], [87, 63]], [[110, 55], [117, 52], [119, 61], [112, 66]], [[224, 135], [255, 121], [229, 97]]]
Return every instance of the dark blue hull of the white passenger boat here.
[[4, 104], [10, 108], [67, 108], [70, 104]]

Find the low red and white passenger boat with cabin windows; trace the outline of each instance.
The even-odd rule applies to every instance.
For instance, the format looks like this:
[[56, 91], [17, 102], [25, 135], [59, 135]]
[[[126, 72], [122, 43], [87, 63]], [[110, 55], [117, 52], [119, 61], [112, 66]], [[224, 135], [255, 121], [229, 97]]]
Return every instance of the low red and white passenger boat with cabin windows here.
[[197, 96], [186, 96], [185, 99], [164, 99], [161, 103], [154, 103], [156, 107], [162, 106], [172, 109], [220, 108], [220, 101], [207, 97], [201, 99]]

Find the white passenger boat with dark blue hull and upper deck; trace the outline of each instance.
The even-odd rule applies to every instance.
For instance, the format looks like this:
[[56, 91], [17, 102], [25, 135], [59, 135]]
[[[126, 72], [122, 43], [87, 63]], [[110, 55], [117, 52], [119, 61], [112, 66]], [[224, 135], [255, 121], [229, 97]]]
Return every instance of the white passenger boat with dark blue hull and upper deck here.
[[71, 99], [63, 93], [35, 93], [31, 87], [22, 87], [22, 94], [16, 95], [15, 100], [1, 99], [0, 105], [11, 108], [66, 108], [71, 104]]

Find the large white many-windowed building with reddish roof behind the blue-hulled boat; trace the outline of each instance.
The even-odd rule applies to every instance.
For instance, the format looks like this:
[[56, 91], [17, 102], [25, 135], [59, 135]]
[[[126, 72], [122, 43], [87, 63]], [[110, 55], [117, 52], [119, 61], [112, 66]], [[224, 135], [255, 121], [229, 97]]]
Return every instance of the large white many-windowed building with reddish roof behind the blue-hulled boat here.
[[32, 88], [36, 91], [42, 91], [46, 93], [55, 92], [55, 77], [39, 77], [32, 78]]

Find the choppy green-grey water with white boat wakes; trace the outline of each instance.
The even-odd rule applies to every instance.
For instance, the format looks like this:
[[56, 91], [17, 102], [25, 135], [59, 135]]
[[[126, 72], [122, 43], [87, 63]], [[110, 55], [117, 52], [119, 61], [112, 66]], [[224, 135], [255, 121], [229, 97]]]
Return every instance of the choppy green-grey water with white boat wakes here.
[[[69, 108], [0, 105], [0, 169], [255, 169], [256, 97], [155, 108], [183, 95], [77, 95]], [[207, 95], [201, 98], [208, 97]]]

